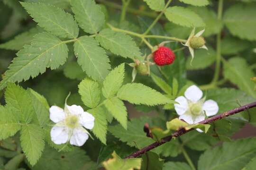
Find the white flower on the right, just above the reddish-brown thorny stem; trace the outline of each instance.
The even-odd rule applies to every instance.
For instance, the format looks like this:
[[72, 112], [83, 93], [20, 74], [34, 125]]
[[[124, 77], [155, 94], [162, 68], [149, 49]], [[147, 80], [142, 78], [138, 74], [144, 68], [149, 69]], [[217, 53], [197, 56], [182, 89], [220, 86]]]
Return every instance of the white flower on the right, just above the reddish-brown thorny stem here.
[[175, 102], [179, 103], [174, 104], [179, 119], [183, 119], [189, 124], [196, 124], [205, 119], [204, 111], [207, 116], [218, 113], [219, 106], [217, 102], [213, 100], [205, 101], [202, 98], [202, 91], [196, 85], [188, 87], [184, 94], [185, 97], [179, 96], [175, 99]]

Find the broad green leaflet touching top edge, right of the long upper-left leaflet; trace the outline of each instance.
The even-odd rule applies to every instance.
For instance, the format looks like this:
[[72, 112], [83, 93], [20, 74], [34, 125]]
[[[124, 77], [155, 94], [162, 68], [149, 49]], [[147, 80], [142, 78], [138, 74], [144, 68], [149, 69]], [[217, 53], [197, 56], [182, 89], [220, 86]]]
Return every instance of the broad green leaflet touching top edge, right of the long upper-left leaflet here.
[[105, 23], [104, 13], [94, 0], [72, 0], [72, 11], [79, 26], [90, 34], [96, 34]]

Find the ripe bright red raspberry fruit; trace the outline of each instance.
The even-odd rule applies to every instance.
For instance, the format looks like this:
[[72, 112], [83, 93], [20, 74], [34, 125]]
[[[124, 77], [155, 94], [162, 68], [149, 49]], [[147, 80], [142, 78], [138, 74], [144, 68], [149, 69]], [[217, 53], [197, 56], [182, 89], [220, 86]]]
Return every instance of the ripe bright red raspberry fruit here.
[[153, 54], [153, 59], [155, 64], [158, 66], [169, 65], [174, 62], [175, 55], [174, 52], [168, 47], [159, 47]]

